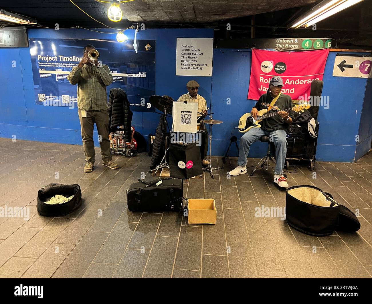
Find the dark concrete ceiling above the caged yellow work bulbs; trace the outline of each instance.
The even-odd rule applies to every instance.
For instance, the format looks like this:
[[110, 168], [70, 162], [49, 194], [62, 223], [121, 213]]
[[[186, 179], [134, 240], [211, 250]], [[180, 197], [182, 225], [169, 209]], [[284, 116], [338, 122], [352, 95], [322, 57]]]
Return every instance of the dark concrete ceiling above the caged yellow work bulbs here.
[[[111, 22], [107, 17], [109, 3], [94, 0], [73, 0], [81, 9], [109, 26], [122, 28], [129, 22], [207, 23], [222, 19], [250, 16], [290, 9], [320, 0], [135, 0], [121, 3], [123, 20]], [[0, 9], [23, 14], [39, 24], [99, 27], [69, 0], [1, 1]], [[129, 21], [129, 22], [128, 22]]]

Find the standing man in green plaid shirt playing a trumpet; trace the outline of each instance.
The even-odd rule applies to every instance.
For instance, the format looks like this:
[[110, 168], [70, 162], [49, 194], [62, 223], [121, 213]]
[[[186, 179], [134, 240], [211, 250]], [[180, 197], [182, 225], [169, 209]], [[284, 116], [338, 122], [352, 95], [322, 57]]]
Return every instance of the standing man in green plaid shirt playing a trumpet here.
[[93, 45], [84, 47], [84, 55], [67, 76], [70, 84], [77, 84], [77, 107], [81, 125], [81, 138], [86, 164], [84, 172], [92, 172], [94, 162], [93, 130], [96, 123], [101, 147], [103, 166], [118, 169], [110, 155], [109, 108], [106, 86], [112, 83], [112, 74], [107, 65], [98, 62], [99, 52]]

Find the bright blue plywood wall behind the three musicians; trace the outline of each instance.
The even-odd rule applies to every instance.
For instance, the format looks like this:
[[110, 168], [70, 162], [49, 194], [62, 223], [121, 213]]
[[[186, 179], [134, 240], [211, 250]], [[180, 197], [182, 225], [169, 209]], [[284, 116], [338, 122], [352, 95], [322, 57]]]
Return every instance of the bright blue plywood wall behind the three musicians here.
[[[109, 31], [109, 30], [108, 30]], [[134, 30], [126, 31], [129, 39]], [[84, 29], [32, 29], [30, 38], [115, 39], [114, 35]], [[186, 93], [190, 79], [199, 82], [199, 94], [212, 104], [213, 118], [224, 121], [214, 126], [212, 155], [222, 156], [228, 147], [232, 128], [239, 117], [249, 112], [255, 101], [247, 100], [251, 69], [251, 51], [214, 49], [213, 76], [176, 76], [176, 38], [213, 37], [212, 29], [148, 29], [139, 31], [138, 39], [156, 40], [155, 92], [177, 99]], [[94, 44], [94, 43], [93, 43]], [[333, 77], [336, 52], [330, 52], [324, 71], [323, 95], [329, 96], [328, 109], [320, 108], [317, 159], [353, 161], [371, 145], [372, 81], [366, 78]], [[16, 63], [15, 67], [12, 67]], [[29, 48], [0, 48], [0, 137], [47, 142], [81, 144], [77, 109], [44, 107], [35, 104]], [[211, 89], [212, 87], [212, 89]], [[230, 101], [230, 104], [227, 104]], [[159, 121], [155, 113], [134, 112], [132, 125], [142, 135], [154, 133]], [[240, 133], [235, 129], [234, 135]], [[355, 136], [360, 135], [360, 141]], [[97, 138], [97, 136], [94, 136]], [[98, 143], [96, 143], [98, 146]], [[266, 145], [255, 143], [250, 157], [262, 157]], [[231, 150], [236, 156], [236, 149]]]

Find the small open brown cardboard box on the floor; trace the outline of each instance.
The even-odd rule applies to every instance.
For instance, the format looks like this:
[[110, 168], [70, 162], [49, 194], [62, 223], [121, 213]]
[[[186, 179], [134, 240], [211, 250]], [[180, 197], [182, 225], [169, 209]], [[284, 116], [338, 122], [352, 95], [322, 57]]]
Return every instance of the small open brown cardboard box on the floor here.
[[189, 224], [215, 224], [217, 209], [214, 199], [189, 199], [187, 221]]

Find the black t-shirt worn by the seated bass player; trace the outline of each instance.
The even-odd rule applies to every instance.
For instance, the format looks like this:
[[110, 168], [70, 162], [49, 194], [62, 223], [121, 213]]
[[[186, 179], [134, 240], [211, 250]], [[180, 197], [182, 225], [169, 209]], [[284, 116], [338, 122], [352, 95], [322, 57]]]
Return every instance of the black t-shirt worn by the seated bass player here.
[[[273, 101], [273, 99], [274, 97], [272, 97], [270, 93], [267, 92], [261, 95], [260, 99], [257, 101], [254, 108], [256, 108], [259, 111], [262, 109], [267, 109], [267, 107], [264, 107], [263, 105], [261, 105], [262, 102], [266, 104], [270, 104]], [[275, 106], [277, 106], [279, 110], [282, 110], [282, 111], [285, 109], [292, 108], [293, 105], [292, 105], [291, 96], [285, 95], [283, 93], [280, 94], [278, 100], [275, 102]], [[271, 109], [268, 113], [272, 113], [272, 112], [278, 112], [278, 111], [274, 111], [273, 109]], [[293, 111], [289, 112], [289, 117], [291, 117], [292, 120], [294, 119]], [[282, 129], [288, 132], [289, 130], [289, 124], [286, 124], [279, 114], [273, 117], [265, 118], [263, 121], [260, 122], [260, 125], [261, 125], [261, 128], [265, 131], [275, 131], [275, 130]]]

